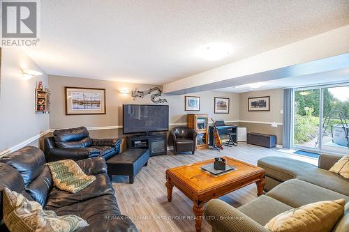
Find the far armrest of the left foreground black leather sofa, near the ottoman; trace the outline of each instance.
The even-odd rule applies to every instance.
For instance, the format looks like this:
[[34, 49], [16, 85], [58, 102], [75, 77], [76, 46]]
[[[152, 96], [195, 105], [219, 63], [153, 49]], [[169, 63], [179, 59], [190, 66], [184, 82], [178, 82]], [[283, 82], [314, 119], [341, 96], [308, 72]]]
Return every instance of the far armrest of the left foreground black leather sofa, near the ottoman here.
[[103, 157], [93, 157], [84, 160], [77, 160], [76, 163], [87, 175], [107, 173], [107, 163], [105, 162]]

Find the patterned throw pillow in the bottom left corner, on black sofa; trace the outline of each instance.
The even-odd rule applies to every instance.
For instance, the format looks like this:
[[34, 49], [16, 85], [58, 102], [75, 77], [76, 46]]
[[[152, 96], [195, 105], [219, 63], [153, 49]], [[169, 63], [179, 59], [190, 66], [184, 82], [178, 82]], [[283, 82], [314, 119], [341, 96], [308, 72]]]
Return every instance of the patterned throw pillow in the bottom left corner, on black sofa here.
[[40, 203], [8, 188], [3, 189], [3, 222], [10, 231], [21, 232], [70, 232], [89, 225], [75, 215], [57, 216], [54, 211], [43, 210]]

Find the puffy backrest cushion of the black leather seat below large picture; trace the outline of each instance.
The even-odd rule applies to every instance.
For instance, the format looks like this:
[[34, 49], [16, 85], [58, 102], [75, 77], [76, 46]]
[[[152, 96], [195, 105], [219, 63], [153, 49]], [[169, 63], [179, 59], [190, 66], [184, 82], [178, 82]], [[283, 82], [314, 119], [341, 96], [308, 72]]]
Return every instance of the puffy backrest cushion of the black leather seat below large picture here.
[[86, 127], [54, 130], [53, 139], [58, 148], [85, 148], [92, 144]]

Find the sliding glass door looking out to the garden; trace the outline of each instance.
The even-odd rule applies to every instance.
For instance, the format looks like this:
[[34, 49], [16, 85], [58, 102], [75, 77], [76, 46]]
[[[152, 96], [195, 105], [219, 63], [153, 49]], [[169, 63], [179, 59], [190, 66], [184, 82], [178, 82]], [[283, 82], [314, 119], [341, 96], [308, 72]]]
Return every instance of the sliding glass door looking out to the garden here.
[[349, 153], [349, 85], [295, 90], [294, 146]]

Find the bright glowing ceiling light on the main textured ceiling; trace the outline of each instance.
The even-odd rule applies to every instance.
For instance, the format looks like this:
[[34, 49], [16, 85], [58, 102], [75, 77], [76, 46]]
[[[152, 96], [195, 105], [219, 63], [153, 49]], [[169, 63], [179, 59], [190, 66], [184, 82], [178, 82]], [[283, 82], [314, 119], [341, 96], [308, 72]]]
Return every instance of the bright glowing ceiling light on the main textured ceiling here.
[[232, 46], [222, 42], [212, 42], [200, 47], [198, 55], [208, 61], [218, 61], [232, 52]]

